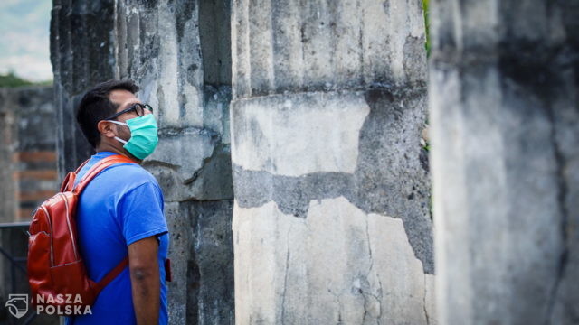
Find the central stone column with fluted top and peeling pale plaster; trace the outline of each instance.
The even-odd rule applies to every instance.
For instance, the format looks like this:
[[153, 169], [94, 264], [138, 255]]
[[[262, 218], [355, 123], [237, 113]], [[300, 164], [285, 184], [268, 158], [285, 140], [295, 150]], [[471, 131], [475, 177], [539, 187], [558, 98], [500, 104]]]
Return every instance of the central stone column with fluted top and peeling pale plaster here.
[[421, 1], [233, 2], [235, 320], [434, 321]]

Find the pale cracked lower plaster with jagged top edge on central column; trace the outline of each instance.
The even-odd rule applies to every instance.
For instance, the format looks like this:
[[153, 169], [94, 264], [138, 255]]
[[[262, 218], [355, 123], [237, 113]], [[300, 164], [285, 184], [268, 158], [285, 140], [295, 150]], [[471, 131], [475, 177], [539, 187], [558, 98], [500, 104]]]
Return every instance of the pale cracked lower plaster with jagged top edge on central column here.
[[307, 218], [274, 201], [234, 210], [236, 256], [252, 252], [235, 259], [244, 270], [236, 292], [247, 292], [238, 324], [435, 323], [433, 276], [402, 220], [366, 214], [344, 197], [312, 200]]

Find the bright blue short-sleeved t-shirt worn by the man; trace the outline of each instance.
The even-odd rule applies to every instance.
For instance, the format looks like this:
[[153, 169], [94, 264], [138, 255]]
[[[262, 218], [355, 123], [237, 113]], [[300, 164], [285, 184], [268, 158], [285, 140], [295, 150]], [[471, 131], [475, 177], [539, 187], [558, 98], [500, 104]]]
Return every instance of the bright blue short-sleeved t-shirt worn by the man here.
[[[100, 159], [94, 154], [77, 182]], [[79, 246], [90, 279], [99, 282], [128, 256], [128, 245], [146, 237], [159, 239], [161, 275], [159, 324], [167, 323], [165, 260], [169, 246], [163, 216], [163, 193], [157, 180], [135, 163], [118, 163], [100, 172], [82, 191], [76, 223]], [[136, 324], [128, 267], [111, 281], [90, 307], [91, 315], [67, 317], [67, 324]]]

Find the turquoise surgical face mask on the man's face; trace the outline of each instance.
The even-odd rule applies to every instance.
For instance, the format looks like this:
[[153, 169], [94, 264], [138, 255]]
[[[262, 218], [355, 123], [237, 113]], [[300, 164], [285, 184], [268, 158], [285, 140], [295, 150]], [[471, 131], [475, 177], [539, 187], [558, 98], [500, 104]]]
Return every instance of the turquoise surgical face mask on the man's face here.
[[155, 151], [159, 141], [157, 135], [157, 121], [155, 116], [147, 114], [145, 116], [138, 116], [127, 120], [127, 123], [119, 121], [107, 120], [118, 125], [126, 125], [130, 130], [130, 139], [125, 141], [118, 136], [115, 139], [120, 143], [125, 144], [125, 148], [130, 154], [138, 159], [145, 159], [149, 154]]

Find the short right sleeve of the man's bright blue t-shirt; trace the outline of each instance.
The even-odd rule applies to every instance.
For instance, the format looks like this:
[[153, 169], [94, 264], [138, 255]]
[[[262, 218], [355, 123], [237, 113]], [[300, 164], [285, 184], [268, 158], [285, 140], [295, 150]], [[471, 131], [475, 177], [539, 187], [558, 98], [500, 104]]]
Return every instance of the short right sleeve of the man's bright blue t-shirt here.
[[125, 193], [119, 202], [119, 218], [127, 246], [166, 233], [163, 194], [157, 184], [148, 181]]

